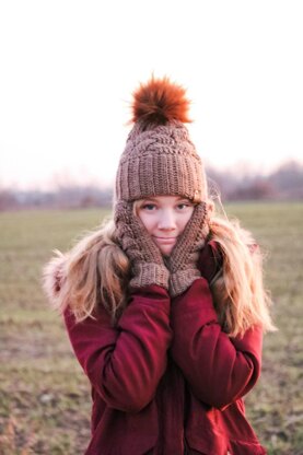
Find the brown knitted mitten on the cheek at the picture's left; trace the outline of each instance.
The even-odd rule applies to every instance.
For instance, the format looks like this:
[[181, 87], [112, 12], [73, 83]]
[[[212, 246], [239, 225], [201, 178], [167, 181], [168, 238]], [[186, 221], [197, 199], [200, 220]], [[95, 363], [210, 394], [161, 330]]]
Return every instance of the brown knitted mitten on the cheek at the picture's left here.
[[168, 270], [160, 249], [152, 241], [139, 218], [133, 214], [132, 203], [117, 202], [115, 224], [121, 248], [131, 262], [130, 285], [141, 288], [159, 284], [168, 289]]

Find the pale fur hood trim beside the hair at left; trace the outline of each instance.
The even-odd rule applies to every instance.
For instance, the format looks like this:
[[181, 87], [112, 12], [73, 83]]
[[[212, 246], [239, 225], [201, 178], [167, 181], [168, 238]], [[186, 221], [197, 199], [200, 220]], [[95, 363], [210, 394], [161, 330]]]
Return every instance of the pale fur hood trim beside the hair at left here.
[[60, 308], [62, 305], [61, 289], [65, 285], [68, 275], [67, 256], [58, 249], [55, 257], [46, 264], [43, 269], [43, 290], [51, 306]]

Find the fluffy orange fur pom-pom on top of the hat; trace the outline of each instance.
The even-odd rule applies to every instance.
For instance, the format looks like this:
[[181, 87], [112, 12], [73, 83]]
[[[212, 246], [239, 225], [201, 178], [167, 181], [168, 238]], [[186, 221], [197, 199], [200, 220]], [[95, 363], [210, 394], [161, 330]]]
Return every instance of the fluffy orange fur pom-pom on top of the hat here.
[[190, 122], [189, 104], [183, 86], [171, 82], [166, 77], [152, 77], [133, 93], [131, 120], [136, 122], [142, 119], [155, 125], [165, 125], [172, 120]]

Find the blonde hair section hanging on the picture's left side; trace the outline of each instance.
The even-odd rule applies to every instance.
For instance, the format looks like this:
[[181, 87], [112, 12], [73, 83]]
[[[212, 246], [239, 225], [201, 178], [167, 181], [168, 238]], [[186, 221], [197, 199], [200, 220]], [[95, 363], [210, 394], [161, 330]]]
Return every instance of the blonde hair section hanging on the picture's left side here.
[[63, 312], [70, 307], [75, 320], [94, 317], [102, 304], [113, 323], [127, 302], [129, 259], [118, 245], [114, 221], [85, 235], [65, 255], [66, 279], [55, 307]]

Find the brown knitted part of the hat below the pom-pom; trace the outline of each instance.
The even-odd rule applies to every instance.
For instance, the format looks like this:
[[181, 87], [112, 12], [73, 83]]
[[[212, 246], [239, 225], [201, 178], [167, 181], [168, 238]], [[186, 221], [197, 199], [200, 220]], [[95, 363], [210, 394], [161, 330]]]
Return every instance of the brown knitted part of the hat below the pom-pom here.
[[202, 162], [184, 124], [133, 126], [117, 171], [116, 200], [179, 195], [199, 202], [206, 192]]

